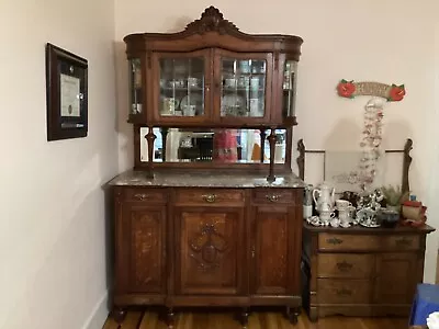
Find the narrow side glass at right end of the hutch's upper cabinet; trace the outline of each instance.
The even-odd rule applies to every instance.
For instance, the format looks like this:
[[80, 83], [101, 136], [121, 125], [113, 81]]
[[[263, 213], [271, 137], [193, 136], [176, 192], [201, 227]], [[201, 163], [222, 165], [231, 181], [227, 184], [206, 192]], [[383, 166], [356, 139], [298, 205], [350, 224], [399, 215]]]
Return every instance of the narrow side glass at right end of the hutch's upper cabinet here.
[[297, 80], [297, 61], [286, 60], [283, 71], [283, 104], [282, 113], [285, 117], [295, 116], [295, 94]]

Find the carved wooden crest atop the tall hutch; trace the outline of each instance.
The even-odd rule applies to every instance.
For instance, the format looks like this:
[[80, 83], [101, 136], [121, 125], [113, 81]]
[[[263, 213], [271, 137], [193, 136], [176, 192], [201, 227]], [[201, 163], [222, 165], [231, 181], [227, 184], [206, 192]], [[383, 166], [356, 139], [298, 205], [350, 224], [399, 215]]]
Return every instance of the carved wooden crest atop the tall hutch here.
[[189, 23], [185, 26], [185, 31], [198, 34], [203, 34], [206, 32], [217, 32], [219, 34], [239, 32], [238, 27], [236, 27], [232, 22], [224, 20], [224, 16], [219, 10], [213, 5], [204, 10], [200, 20]]

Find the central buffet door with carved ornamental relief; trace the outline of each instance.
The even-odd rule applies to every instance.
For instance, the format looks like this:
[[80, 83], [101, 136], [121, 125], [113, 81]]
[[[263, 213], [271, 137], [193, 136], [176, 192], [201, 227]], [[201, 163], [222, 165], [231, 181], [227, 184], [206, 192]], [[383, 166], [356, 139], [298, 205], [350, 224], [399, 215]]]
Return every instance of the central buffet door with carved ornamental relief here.
[[243, 271], [240, 208], [183, 207], [177, 212], [177, 290], [181, 294], [238, 294]]

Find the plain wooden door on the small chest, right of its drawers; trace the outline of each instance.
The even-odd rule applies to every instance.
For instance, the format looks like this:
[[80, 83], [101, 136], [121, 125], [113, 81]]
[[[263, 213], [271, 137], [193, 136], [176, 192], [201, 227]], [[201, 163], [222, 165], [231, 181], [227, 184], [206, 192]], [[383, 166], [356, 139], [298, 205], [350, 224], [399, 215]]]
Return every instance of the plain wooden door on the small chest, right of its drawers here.
[[416, 253], [376, 256], [375, 303], [410, 304], [417, 283]]

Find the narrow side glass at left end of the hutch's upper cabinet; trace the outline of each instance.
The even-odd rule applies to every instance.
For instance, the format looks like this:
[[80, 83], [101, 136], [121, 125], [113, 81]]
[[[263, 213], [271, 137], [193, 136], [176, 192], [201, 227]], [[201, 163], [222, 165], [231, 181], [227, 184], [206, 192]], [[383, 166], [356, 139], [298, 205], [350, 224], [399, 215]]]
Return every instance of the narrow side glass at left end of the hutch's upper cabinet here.
[[143, 113], [143, 83], [142, 83], [142, 63], [140, 58], [128, 60], [130, 72], [130, 114], [138, 115]]

